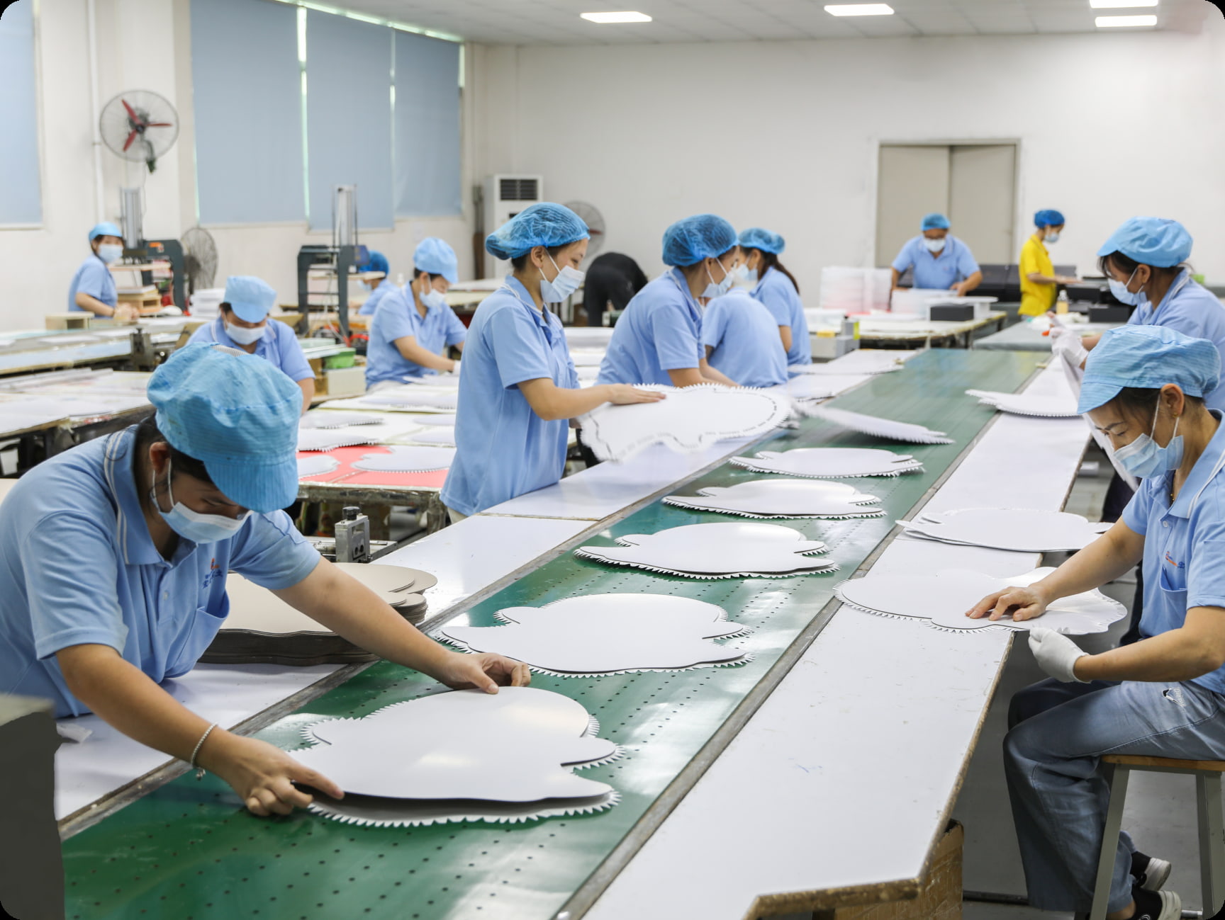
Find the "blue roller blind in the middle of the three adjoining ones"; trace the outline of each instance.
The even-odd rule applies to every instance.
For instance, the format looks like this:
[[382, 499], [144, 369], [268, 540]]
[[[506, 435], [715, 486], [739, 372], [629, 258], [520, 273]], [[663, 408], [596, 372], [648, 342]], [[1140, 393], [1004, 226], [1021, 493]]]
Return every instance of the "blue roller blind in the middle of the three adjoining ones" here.
[[312, 230], [332, 226], [332, 190], [358, 186], [361, 229], [394, 226], [392, 29], [306, 13], [306, 169]]

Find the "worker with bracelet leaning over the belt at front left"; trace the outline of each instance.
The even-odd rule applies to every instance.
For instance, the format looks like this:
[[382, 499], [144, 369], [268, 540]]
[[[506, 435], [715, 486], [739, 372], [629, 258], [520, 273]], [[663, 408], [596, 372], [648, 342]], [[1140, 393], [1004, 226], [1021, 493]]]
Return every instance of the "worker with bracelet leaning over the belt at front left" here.
[[191, 670], [225, 621], [228, 571], [448, 686], [528, 681], [517, 662], [424, 636], [277, 510], [298, 494], [301, 398], [267, 361], [187, 345], [153, 372], [148, 398], [154, 417], [39, 464], [5, 499], [0, 692], [53, 700], [61, 717], [92, 712], [267, 815], [310, 803], [292, 783], [341, 790], [159, 686]]

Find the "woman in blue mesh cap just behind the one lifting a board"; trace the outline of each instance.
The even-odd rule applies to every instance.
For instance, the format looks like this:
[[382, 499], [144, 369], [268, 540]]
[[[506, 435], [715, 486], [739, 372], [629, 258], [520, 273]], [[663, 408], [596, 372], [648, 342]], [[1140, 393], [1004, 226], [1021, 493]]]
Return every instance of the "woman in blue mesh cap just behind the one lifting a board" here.
[[671, 265], [635, 295], [612, 327], [597, 383], [736, 382], [707, 363], [702, 308], [726, 294], [740, 261], [736, 231], [714, 214], [695, 214], [664, 231], [664, 264]]

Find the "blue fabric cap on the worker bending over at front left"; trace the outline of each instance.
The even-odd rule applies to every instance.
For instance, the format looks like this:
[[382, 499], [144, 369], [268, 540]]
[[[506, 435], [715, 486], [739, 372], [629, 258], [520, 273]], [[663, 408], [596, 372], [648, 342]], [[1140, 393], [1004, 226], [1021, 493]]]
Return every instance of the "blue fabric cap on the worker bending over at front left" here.
[[222, 493], [267, 513], [298, 497], [303, 391], [256, 355], [186, 345], [153, 372], [149, 402], [176, 450], [205, 464]]

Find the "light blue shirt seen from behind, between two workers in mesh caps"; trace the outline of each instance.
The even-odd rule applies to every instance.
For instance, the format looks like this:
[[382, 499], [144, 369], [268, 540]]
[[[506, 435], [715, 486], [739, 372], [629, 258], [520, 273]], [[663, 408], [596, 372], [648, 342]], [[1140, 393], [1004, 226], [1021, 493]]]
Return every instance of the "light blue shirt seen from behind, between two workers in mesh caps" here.
[[709, 365], [741, 387], [786, 383], [786, 352], [778, 324], [748, 291], [733, 289], [707, 305], [702, 345], [714, 349]]

